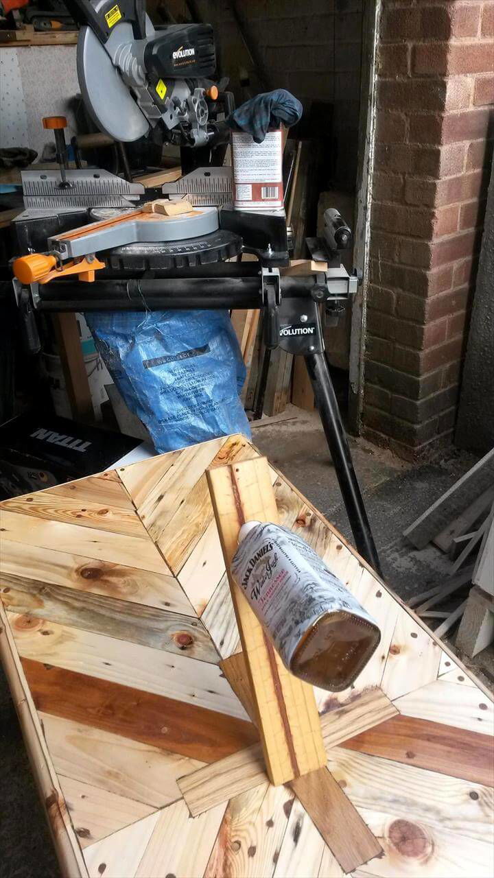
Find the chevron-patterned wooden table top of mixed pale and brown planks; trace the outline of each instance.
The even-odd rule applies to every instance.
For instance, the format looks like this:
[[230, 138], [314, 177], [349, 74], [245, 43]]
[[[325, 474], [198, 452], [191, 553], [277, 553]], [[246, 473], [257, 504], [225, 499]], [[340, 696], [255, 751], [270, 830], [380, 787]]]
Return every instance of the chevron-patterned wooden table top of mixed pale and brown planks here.
[[63, 874], [490, 876], [490, 695], [274, 469], [381, 645], [316, 690], [322, 786], [267, 781], [206, 477], [256, 456], [224, 436], [0, 504], [1, 655]]

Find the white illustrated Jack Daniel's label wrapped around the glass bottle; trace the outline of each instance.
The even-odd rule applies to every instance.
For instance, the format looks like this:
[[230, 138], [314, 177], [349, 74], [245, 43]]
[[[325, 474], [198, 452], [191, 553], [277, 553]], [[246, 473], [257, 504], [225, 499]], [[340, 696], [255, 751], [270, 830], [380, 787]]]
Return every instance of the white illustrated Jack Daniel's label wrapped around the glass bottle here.
[[305, 632], [324, 613], [374, 619], [308, 543], [277, 524], [258, 524], [240, 543], [231, 572], [288, 668]]

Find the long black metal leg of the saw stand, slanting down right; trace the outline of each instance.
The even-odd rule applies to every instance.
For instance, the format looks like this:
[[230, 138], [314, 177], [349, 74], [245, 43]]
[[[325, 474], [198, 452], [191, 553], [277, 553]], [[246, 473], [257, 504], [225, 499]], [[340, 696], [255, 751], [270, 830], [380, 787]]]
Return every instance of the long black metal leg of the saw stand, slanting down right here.
[[362, 558], [365, 558], [382, 576], [379, 556], [367, 519], [359, 482], [353, 469], [352, 455], [326, 358], [324, 354], [306, 354], [304, 358], [355, 544]]

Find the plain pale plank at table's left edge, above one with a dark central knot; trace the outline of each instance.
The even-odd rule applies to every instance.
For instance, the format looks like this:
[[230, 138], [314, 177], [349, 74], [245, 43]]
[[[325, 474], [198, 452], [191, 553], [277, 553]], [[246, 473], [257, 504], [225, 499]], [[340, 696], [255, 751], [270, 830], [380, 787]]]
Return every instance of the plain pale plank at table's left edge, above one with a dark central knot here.
[[170, 573], [150, 539], [84, 528], [79, 524], [47, 522], [33, 515], [4, 509], [0, 510], [0, 522], [5, 539], [14, 543], [85, 555], [87, 558], [113, 561], [129, 567], [138, 565], [143, 570], [156, 573]]

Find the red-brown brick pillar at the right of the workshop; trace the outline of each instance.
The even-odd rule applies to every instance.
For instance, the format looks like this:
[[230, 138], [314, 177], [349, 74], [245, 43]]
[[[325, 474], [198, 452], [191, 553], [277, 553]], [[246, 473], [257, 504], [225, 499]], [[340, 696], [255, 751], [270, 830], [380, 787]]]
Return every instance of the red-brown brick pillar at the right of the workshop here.
[[454, 428], [492, 154], [493, 12], [383, 3], [363, 425], [403, 457]]

